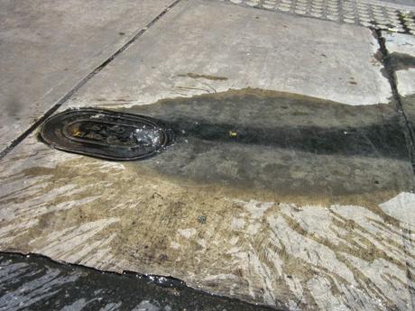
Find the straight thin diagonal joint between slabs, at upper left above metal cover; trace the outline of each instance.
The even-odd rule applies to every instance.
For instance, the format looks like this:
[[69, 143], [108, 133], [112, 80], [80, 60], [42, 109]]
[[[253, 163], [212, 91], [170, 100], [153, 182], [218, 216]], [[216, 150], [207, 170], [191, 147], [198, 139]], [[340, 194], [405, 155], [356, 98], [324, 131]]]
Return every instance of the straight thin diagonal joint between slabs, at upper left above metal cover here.
[[0, 151], [0, 160], [3, 159], [10, 151], [14, 150], [14, 147], [16, 147], [20, 142], [23, 142], [23, 140], [29, 136], [36, 128], [38, 128], [46, 119], [48, 119], [51, 114], [55, 113], [61, 105], [63, 105], [66, 101], [69, 100], [71, 96], [73, 96], [80, 87], [83, 87], [88, 80], [91, 78], [94, 78], [98, 72], [100, 72], [102, 69], [106, 67], [109, 63], [111, 63], [119, 54], [121, 54], [124, 50], [126, 50], [131, 44], [134, 43], [139, 37], [143, 35], [144, 32], [146, 32], [154, 23], [156, 23], [161, 17], [165, 14], [167, 14], [175, 5], [178, 5], [181, 0], [174, 0], [170, 5], [166, 6], [163, 11], [161, 11], [160, 14], [155, 16], [152, 21], [147, 23], [142, 29], [140, 29], [139, 32], [135, 33], [134, 36], [124, 43], [124, 45], [119, 48], [118, 50], [115, 50], [113, 54], [111, 54], [107, 59], [105, 59], [100, 65], [97, 66], [96, 69], [92, 70], [88, 73], [88, 75], [84, 78], [82, 78], [75, 87], [72, 87], [68, 93], [66, 93], [64, 96], [60, 97], [60, 99], [51, 106], [49, 110], [47, 110], [44, 114], [42, 114], [32, 125], [29, 126], [22, 134], [20, 134], [17, 138], [15, 138], [12, 142], [10, 142], [3, 151]]

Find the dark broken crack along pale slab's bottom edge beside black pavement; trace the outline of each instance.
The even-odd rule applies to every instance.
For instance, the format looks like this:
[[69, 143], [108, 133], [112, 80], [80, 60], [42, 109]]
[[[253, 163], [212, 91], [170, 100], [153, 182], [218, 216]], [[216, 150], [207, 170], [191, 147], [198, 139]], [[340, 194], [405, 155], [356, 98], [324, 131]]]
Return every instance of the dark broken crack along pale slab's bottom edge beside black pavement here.
[[[89, 271], [97, 271], [99, 273], [106, 273], [106, 274], [110, 274], [110, 275], [115, 275], [117, 277], [127, 277], [127, 278], [132, 278], [132, 279], [145, 279], [146, 281], [148, 281], [149, 283], [156, 285], [158, 287], [161, 288], [188, 288], [192, 291], [197, 292], [200, 295], [204, 295], [204, 296], [208, 296], [208, 297], [215, 297], [215, 298], [220, 298], [220, 299], [224, 299], [229, 303], [232, 302], [239, 302], [239, 303], [244, 303], [250, 306], [261, 306], [263, 309], [267, 309], [270, 311], [289, 311], [288, 309], [277, 309], [274, 308], [272, 306], [265, 306], [262, 304], [253, 304], [238, 298], [234, 298], [234, 297], [226, 297], [226, 296], [222, 296], [222, 295], [217, 295], [217, 294], [212, 294], [209, 293], [207, 291], [198, 289], [198, 288], [190, 288], [186, 282], [184, 282], [181, 279], [176, 279], [173, 278], [171, 276], [160, 276], [160, 275], [154, 275], [154, 274], [142, 274], [142, 273], [138, 273], [138, 272], [134, 272], [134, 271], [130, 271], [130, 270], [124, 270], [123, 272], [119, 273], [119, 272], [115, 272], [115, 271], [109, 271], [109, 270], [98, 270], [96, 268], [92, 268], [92, 267], [88, 267], [88, 266], [84, 266], [81, 264], [76, 264], [76, 263], [69, 263], [66, 261], [54, 261], [52, 260], [50, 257], [48, 256], [44, 256], [42, 254], [38, 254], [38, 253], [34, 253], [34, 252], [28, 252], [28, 253], [23, 253], [23, 252], [4, 252], [1, 251], [0, 252], [0, 256], [2, 255], [15, 255], [15, 256], [21, 256], [21, 257], [33, 257], [34, 259], [44, 259], [46, 261], [52, 262], [54, 264], [58, 264], [58, 265], [64, 265], [73, 269], [83, 269], [83, 270], [89, 270]], [[167, 279], [167, 280], [166, 280]]]

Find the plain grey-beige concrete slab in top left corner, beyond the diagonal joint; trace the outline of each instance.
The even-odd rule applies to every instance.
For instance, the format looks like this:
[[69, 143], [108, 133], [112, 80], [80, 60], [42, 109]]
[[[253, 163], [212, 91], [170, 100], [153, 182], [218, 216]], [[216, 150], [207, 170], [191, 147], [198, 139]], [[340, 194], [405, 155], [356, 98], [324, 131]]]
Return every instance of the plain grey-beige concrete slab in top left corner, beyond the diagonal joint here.
[[0, 1], [0, 151], [171, 2]]

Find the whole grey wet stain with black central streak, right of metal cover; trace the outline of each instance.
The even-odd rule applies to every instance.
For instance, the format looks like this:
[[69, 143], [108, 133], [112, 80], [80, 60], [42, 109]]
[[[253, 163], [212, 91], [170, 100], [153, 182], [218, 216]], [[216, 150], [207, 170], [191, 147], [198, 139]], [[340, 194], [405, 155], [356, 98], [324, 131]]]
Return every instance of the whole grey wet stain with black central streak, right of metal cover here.
[[175, 145], [131, 165], [174, 178], [291, 197], [387, 197], [412, 188], [393, 105], [343, 105], [247, 88], [123, 111], [171, 125]]

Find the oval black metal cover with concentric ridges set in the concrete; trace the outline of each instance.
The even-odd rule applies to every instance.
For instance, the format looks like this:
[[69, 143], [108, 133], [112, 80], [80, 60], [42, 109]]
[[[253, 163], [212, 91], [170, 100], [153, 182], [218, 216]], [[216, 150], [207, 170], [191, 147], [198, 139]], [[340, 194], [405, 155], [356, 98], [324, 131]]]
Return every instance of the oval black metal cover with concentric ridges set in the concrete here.
[[61, 151], [106, 160], [140, 160], [168, 146], [172, 131], [143, 115], [101, 109], [71, 109], [51, 116], [43, 142]]

